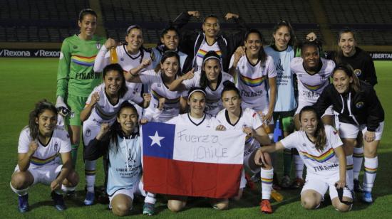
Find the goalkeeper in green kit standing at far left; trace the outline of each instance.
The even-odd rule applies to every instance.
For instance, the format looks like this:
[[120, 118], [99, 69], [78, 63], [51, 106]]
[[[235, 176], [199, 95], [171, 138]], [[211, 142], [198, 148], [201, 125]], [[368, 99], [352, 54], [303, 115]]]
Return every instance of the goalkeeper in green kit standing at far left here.
[[66, 117], [68, 133], [71, 137], [72, 164], [76, 166], [76, 156], [81, 140], [80, 113], [88, 95], [100, 84], [100, 73], [93, 71], [94, 61], [105, 38], [94, 35], [97, 27], [97, 14], [91, 9], [83, 9], [79, 14], [78, 25], [81, 33], [63, 41], [57, 73], [56, 107], [71, 110]]

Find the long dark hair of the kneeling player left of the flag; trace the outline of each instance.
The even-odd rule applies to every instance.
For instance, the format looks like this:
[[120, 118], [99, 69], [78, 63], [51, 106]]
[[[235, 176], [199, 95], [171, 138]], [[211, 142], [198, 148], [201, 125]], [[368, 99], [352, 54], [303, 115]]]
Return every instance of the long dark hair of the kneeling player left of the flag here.
[[[120, 117], [120, 113], [125, 108], [130, 108], [133, 111], [135, 111], [136, 114], [138, 115], [138, 120], [139, 120], [138, 110], [136, 110], [135, 106], [128, 101], [125, 101], [121, 104], [120, 110], [118, 110], [117, 112], [117, 118]], [[108, 132], [108, 137], [110, 139], [109, 150], [114, 151], [115, 154], [117, 154], [118, 151], [120, 151], [120, 146], [118, 145], [118, 134], [120, 133], [123, 133], [123, 130], [121, 129], [120, 123], [118, 123], [117, 119], [115, 119], [115, 122], [112, 124], [112, 126], [110, 127], [110, 131]], [[136, 132], [135, 134], [139, 134], [139, 133]]]

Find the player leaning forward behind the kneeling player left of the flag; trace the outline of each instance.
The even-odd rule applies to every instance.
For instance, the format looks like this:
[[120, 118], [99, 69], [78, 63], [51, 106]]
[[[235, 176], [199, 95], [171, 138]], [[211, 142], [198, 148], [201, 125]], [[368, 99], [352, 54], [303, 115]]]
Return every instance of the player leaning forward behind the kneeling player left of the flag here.
[[[113, 124], [123, 102], [132, 100], [140, 107], [147, 107], [149, 100], [135, 95], [125, 84], [123, 68], [119, 64], [110, 64], [103, 68], [103, 83], [94, 88], [81, 112], [83, 121], [83, 144], [88, 145], [100, 130], [100, 124]], [[148, 99], [148, 97], [146, 97]], [[87, 194], [85, 205], [94, 202], [94, 183], [96, 181], [96, 161], [85, 161]]]

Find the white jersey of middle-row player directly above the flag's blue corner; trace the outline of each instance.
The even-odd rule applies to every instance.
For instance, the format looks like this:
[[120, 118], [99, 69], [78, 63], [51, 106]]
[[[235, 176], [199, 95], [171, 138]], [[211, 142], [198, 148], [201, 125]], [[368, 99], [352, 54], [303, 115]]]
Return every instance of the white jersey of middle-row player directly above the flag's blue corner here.
[[177, 91], [170, 91], [163, 83], [162, 71], [155, 73], [155, 70], [148, 70], [139, 74], [140, 80], [143, 84], [151, 88], [151, 102], [145, 110], [146, 117], [152, 117], [155, 114], [155, 109], [159, 106], [159, 99], [165, 97], [165, 105], [163, 111], [159, 115], [158, 121], [165, 122], [167, 119], [177, 116], [180, 113], [180, 98], [182, 93]]

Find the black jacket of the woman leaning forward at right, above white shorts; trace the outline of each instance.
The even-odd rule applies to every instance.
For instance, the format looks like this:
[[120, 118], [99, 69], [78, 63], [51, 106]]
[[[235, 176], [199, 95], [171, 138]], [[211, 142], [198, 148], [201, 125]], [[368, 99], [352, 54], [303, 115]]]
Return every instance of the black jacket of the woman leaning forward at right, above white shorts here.
[[366, 124], [368, 131], [374, 132], [384, 121], [384, 111], [372, 85], [360, 81], [360, 91], [350, 90], [339, 94], [333, 84], [325, 87], [314, 104], [319, 115], [324, 114], [330, 105], [339, 113], [339, 122]]

